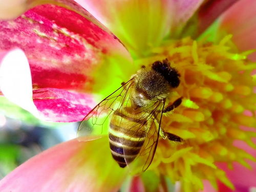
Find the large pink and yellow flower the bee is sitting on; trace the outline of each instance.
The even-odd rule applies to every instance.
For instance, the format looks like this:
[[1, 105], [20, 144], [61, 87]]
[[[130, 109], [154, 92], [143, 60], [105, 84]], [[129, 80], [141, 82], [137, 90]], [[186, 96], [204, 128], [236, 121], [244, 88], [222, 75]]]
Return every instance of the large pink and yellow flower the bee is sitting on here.
[[[250, 55], [253, 51], [248, 51], [255, 48], [248, 47], [253, 46], [252, 27], [255, 22], [250, 26], [245, 20], [236, 19], [236, 15], [247, 18], [248, 13], [251, 13], [249, 18], [255, 18], [255, 14], [252, 14], [255, 3], [241, 0], [230, 8], [231, 13], [225, 13], [216, 25], [211, 26], [210, 31], [193, 38], [201, 34], [233, 1], [110, 3], [102, 0], [95, 3], [77, 0], [121, 40], [132, 55], [132, 66], [131, 57], [120, 41], [89, 12], [72, 1], [49, 2], [55, 5], [34, 7], [15, 20], [2, 22], [1, 30], [2, 49], [5, 51], [19, 47], [28, 57], [34, 90], [33, 103], [39, 115], [55, 121], [65, 118], [66, 121], [81, 120], [82, 114], [88, 113], [88, 107], [93, 102], [91, 95], [85, 93], [92, 93], [93, 88], [99, 89], [100, 84], [102, 87], [102, 74], [106, 77], [104, 81], [112, 80], [117, 86], [122, 80], [116, 81], [112, 76], [122, 75], [119, 79], [127, 80], [131, 71], [135, 72], [139, 66], [168, 58], [181, 74], [181, 84], [173, 92], [172, 98], [175, 100], [182, 96], [183, 101], [173, 114], [163, 117], [162, 126], [165, 131], [182, 137], [184, 142], [177, 144], [160, 139], [150, 170], [142, 174], [141, 178], [132, 179], [131, 183], [135, 184], [134, 188], [141, 188], [141, 182], [144, 182], [146, 191], [160, 188], [167, 190], [164, 178], [167, 177], [173, 182], [180, 181], [184, 191], [198, 191], [203, 189], [203, 179], [206, 179], [216, 188], [219, 180], [233, 189], [233, 184], [217, 163], [225, 162], [231, 166], [233, 162], [239, 162], [249, 167], [245, 160], [255, 160], [252, 155], [233, 145], [235, 140], [243, 140], [255, 147], [251, 140], [255, 132], [241, 129], [241, 125], [256, 126], [256, 97], [253, 91], [255, 75], [252, 75], [256, 64], [250, 60], [254, 59]], [[35, 1], [37, 3], [40, 1]], [[250, 11], [240, 11], [241, 6], [250, 7]], [[198, 8], [197, 14], [194, 14]], [[241, 29], [233, 30], [236, 29], [233, 26], [237, 21], [243, 25]], [[28, 36], [24, 34], [25, 30]], [[216, 38], [208, 41], [209, 37], [213, 39], [214, 32]], [[248, 34], [247, 44], [236, 38], [244, 37], [245, 34]], [[27, 39], [32, 39], [32, 46], [31, 43], [24, 43]], [[41, 41], [45, 44], [41, 45]], [[84, 66], [84, 60], [89, 65]], [[117, 62], [129, 71], [113, 70], [111, 65]], [[6, 66], [3, 63], [1, 68]], [[87, 87], [83, 86], [84, 83], [87, 83]], [[108, 83], [104, 82], [105, 85], [108, 86]], [[100, 93], [108, 94], [105, 90]], [[4, 91], [3, 94], [6, 95]], [[53, 99], [61, 97], [66, 99], [65, 103], [77, 105], [65, 108], [61, 99], [52, 103], [51, 96]], [[81, 98], [88, 97], [89, 101], [85, 104], [79, 103]], [[49, 112], [49, 108], [52, 111]], [[78, 112], [77, 116], [74, 111]], [[115, 191], [127, 173], [111, 158], [106, 143], [108, 141], [103, 137], [94, 141], [72, 140], [57, 145], [15, 169], [1, 181], [0, 189]], [[100, 158], [102, 154], [104, 158]], [[151, 179], [154, 185], [146, 185]], [[105, 187], [104, 184], [110, 181], [111, 185]]]

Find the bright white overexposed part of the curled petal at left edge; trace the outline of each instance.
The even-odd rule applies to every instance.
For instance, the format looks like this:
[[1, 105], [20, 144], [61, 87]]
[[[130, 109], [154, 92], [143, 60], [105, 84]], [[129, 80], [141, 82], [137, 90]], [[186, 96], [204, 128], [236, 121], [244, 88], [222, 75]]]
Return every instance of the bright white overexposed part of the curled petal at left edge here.
[[0, 90], [8, 100], [39, 117], [32, 98], [32, 78], [29, 62], [22, 50], [13, 49], [2, 59]]

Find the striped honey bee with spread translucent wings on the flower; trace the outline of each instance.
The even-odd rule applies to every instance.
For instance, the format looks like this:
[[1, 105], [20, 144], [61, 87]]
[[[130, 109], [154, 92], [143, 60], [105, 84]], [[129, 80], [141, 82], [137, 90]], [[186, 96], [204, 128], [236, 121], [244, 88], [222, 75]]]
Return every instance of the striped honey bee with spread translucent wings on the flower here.
[[[153, 161], [159, 135], [164, 139], [182, 141], [161, 127], [163, 114], [173, 111], [182, 102], [180, 97], [165, 106], [169, 93], [180, 84], [179, 77], [167, 58], [142, 66], [129, 81], [123, 82], [84, 117], [78, 127], [78, 136], [82, 132], [101, 131], [107, 125], [114, 160], [120, 167], [126, 167], [139, 159], [139, 165], [145, 171]], [[102, 114], [106, 114], [103, 119], [100, 118]], [[91, 127], [87, 120], [91, 121]]]

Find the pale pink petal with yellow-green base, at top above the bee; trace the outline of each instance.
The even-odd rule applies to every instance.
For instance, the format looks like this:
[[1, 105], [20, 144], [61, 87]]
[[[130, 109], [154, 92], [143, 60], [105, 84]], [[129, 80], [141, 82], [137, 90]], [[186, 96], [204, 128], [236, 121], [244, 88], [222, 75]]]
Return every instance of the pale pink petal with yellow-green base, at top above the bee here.
[[175, 17], [172, 0], [76, 0], [108, 27], [136, 56], [159, 45]]

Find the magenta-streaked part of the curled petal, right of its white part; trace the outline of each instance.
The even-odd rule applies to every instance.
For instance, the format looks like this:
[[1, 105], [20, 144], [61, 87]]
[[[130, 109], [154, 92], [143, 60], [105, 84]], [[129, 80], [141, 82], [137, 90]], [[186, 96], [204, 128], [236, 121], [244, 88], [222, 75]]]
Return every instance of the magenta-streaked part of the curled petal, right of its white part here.
[[92, 95], [55, 88], [33, 91], [33, 100], [46, 121], [81, 121], [95, 106]]

